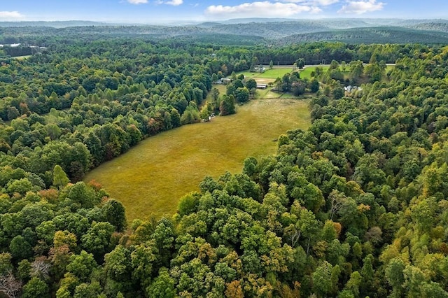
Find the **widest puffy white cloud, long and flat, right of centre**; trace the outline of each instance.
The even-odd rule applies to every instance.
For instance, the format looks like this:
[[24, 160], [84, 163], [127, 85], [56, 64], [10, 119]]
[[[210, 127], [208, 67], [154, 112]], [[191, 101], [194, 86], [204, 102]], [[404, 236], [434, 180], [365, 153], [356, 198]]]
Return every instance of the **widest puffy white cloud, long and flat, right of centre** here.
[[237, 6], [213, 5], [207, 7], [206, 15], [214, 18], [226, 19], [237, 17], [292, 17], [300, 13], [320, 13], [321, 8], [305, 6], [297, 3], [280, 3], [270, 1], [257, 1], [242, 3]]

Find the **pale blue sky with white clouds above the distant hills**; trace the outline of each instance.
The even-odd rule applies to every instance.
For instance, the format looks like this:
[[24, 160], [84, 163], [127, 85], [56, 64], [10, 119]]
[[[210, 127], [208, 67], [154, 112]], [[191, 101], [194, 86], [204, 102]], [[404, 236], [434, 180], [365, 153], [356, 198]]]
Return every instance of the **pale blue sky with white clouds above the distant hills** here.
[[448, 19], [446, 0], [0, 0], [0, 21], [93, 20], [155, 24], [239, 17]]

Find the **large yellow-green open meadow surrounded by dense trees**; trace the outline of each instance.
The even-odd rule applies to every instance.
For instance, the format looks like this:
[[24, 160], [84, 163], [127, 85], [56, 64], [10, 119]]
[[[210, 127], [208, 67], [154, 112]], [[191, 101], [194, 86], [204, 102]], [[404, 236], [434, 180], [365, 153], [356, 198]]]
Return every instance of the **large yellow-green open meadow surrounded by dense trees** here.
[[101, 183], [126, 207], [128, 220], [172, 215], [179, 199], [204, 176], [241, 172], [243, 161], [276, 152], [288, 129], [309, 126], [307, 101], [257, 99], [235, 115], [186, 125], [148, 138], [85, 177]]

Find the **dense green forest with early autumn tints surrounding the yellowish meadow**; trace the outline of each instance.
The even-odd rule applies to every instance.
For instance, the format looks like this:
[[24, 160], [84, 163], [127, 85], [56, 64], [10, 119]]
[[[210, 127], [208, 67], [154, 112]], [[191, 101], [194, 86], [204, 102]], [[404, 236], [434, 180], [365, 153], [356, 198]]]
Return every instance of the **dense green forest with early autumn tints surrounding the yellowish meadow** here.
[[[0, 297], [448, 297], [447, 47], [42, 38], [0, 66]], [[234, 113], [253, 82], [219, 94], [216, 78], [322, 60], [309, 82], [277, 81], [314, 92], [309, 129], [205, 177], [171, 218], [127, 222], [81, 181], [144, 138]]]

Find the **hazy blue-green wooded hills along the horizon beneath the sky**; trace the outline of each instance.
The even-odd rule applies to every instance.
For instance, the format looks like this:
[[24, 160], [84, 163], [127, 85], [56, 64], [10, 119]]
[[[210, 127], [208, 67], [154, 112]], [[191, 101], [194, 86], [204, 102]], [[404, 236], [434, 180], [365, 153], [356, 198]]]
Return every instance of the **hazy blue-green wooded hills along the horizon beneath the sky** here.
[[204, 42], [223, 39], [232, 42], [232, 39], [235, 39], [235, 44], [240, 41], [262, 44], [313, 41], [448, 43], [448, 20], [250, 18], [178, 25], [112, 24], [79, 20], [0, 22], [0, 41], [27, 43], [27, 39], [19, 38], [20, 34], [22, 36], [78, 34], [89, 36], [91, 40], [99, 36], [182, 38], [187, 41]]

